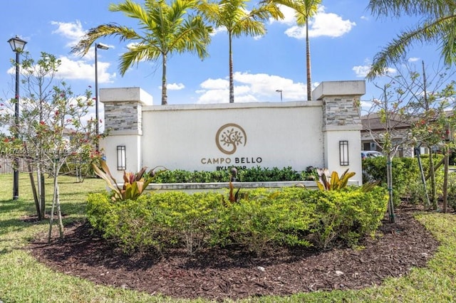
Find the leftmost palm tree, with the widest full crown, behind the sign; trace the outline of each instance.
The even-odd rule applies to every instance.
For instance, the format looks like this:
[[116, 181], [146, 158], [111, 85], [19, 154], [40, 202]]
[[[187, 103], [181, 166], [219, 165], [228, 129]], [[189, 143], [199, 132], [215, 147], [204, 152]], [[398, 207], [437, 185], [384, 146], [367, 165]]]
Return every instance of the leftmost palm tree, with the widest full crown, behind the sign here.
[[120, 56], [120, 75], [141, 60], [162, 59], [162, 105], [167, 105], [166, 69], [167, 59], [173, 53], [197, 53], [207, 57], [206, 46], [210, 42], [212, 27], [201, 16], [191, 16], [187, 10], [195, 9], [195, 0], [145, 0], [144, 6], [132, 0], [110, 4], [110, 11], [121, 11], [130, 18], [138, 19], [141, 33], [116, 23], [102, 24], [91, 28], [86, 36], [73, 47], [73, 53], [85, 55], [90, 46], [100, 37], [118, 36], [120, 41], [132, 41], [133, 46]]

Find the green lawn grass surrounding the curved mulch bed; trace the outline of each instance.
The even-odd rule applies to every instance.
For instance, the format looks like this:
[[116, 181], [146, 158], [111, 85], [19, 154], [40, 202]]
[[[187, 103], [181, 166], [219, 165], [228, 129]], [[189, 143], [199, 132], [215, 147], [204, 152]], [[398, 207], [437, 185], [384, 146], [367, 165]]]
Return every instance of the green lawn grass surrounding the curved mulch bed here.
[[[203, 299], [171, 299], [128, 289], [95, 285], [88, 280], [54, 272], [24, 250], [33, 235], [48, 230], [48, 222], [26, 223], [22, 216], [35, 213], [28, 175], [21, 174], [19, 200], [12, 201], [12, 175], [0, 175], [0, 301], [1, 302], [205, 302]], [[51, 179], [48, 206], [51, 206]], [[87, 194], [103, 191], [100, 179], [61, 177], [62, 212], [65, 220], [84, 217]], [[261, 297], [240, 302], [455, 302], [456, 300], [456, 217], [423, 213], [418, 220], [440, 241], [427, 267], [409, 275], [390, 278], [380, 286], [358, 291], [294, 294], [289, 297]]]

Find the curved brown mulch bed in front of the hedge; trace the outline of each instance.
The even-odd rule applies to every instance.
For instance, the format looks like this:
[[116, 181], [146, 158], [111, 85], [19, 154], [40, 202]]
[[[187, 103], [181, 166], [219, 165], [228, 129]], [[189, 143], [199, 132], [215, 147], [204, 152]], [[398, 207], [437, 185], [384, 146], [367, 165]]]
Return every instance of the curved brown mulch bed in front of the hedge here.
[[66, 238], [28, 247], [40, 262], [59, 272], [103, 285], [138, 289], [171, 297], [222, 300], [269, 294], [289, 295], [331, 289], [360, 289], [423, 267], [437, 241], [413, 219], [415, 208], [401, 208], [396, 223], [387, 220], [381, 236], [366, 238], [363, 249], [326, 252], [294, 249], [255, 257], [236, 248], [207, 250], [194, 257], [184, 251], [125, 255], [96, 238], [85, 223], [66, 228]]

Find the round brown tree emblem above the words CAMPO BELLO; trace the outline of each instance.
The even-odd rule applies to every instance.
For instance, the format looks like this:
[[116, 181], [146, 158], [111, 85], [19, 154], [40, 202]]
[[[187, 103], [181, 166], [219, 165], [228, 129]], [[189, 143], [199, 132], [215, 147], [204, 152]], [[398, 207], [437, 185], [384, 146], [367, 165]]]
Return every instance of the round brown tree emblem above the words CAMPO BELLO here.
[[238, 124], [228, 123], [219, 128], [215, 142], [222, 153], [234, 154], [239, 145], [245, 146], [247, 143], [247, 134]]

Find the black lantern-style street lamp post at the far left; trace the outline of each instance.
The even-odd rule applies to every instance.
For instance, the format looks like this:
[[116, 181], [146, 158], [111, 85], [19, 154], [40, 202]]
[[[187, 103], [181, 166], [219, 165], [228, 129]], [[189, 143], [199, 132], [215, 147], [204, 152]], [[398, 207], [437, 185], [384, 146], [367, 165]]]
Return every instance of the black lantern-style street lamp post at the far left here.
[[[14, 130], [16, 138], [19, 138], [19, 54], [24, 50], [26, 41], [22, 40], [18, 36], [9, 39], [8, 41], [11, 49], [16, 53], [16, 92], [14, 99]], [[14, 158], [14, 175], [13, 175], [13, 200], [19, 198], [19, 159]]]

